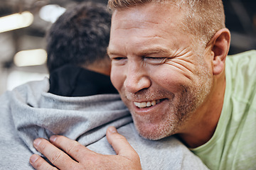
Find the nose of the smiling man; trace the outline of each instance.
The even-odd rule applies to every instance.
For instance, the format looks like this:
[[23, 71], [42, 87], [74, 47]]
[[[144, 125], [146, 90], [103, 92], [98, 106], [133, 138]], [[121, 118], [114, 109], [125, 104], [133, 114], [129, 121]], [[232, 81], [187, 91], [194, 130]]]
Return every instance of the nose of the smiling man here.
[[130, 93], [135, 94], [137, 91], [149, 88], [151, 80], [147, 75], [146, 68], [143, 64], [137, 62], [129, 62], [124, 81], [124, 87]]

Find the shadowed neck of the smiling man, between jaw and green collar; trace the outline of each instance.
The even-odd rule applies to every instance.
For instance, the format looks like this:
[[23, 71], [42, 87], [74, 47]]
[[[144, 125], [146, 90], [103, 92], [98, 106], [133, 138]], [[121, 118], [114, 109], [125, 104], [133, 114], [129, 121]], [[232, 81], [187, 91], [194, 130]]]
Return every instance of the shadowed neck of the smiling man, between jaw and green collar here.
[[199, 147], [213, 137], [223, 108], [225, 94], [225, 74], [213, 86], [212, 94], [205, 103], [197, 109], [195, 117], [186, 130], [178, 134], [178, 138], [190, 148]]

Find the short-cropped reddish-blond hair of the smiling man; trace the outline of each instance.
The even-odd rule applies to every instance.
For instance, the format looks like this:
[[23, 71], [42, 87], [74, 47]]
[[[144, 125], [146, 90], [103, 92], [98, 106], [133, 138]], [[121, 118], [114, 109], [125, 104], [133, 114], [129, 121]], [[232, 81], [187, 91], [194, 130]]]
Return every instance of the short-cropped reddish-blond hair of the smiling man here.
[[144, 4], [171, 4], [185, 13], [179, 26], [183, 33], [191, 33], [194, 39], [208, 43], [210, 38], [225, 28], [225, 14], [222, 0], [109, 0], [112, 11]]

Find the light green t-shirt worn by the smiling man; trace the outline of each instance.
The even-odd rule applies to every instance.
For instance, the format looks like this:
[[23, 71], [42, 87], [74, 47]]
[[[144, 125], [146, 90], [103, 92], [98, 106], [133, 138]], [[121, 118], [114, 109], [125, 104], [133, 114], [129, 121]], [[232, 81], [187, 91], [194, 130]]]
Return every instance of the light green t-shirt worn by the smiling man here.
[[209, 169], [256, 169], [256, 50], [225, 62], [223, 110], [213, 137], [191, 149]]

